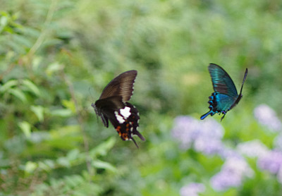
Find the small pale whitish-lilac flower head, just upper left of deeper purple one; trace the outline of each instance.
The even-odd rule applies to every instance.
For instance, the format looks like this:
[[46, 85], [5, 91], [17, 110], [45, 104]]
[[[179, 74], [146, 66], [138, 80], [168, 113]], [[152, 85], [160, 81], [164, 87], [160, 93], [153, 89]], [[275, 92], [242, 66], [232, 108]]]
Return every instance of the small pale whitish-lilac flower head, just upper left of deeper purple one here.
[[240, 143], [236, 149], [247, 157], [262, 157], [269, 152], [269, 149], [260, 140]]

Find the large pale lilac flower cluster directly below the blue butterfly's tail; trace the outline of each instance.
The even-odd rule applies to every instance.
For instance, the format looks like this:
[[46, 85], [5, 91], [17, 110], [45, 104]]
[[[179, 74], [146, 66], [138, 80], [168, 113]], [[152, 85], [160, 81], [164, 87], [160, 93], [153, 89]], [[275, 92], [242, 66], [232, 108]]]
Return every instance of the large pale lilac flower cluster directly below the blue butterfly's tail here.
[[180, 148], [193, 147], [197, 152], [215, 154], [223, 146], [223, 128], [213, 119], [200, 121], [190, 116], [178, 116], [174, 120], [171, 134], [180, 142]]

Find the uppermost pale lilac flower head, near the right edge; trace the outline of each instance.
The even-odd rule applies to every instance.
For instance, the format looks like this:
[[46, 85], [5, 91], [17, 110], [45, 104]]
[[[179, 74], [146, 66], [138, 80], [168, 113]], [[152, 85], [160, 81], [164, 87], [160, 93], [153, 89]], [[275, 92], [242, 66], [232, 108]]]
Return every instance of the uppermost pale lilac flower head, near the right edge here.
[[276, 113], [266, 104], [259, 105], [254, 110], [255, 118], [262, 125], [265, 125], [271, 131], [281, 130], [281, 121], [276, 116]]

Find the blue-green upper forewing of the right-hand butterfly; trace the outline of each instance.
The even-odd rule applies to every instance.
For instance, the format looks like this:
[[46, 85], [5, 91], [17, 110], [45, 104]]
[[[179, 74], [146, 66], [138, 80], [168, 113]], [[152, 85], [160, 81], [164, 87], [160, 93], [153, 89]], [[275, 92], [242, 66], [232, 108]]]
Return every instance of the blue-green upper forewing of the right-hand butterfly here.
[[[238, 96], [238, 92], [234, 85], [234, 82], [226, 73], [226, 71], [214, 63], [209, 64], [209, 74], [212, 78], [212, 85], [214, 86], [214, 92], [219, 92], [221, 94], [227, 94], [230, 97]], [[231, 102], [233, 104], [233, 102]]]

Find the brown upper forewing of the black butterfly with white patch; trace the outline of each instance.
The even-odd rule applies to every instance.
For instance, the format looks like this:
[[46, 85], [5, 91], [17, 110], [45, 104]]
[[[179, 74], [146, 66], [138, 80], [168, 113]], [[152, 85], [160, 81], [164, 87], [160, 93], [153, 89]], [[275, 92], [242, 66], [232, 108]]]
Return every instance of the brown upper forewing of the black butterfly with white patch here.
[[116, 78], [111, 80], [104, 88], [99, 99], [105, 99], [106, 97], [121, 96], [123, 102], [129, 101], [133, 94], [133, 85], [137, 71], [131, 70], [121, 73]]

